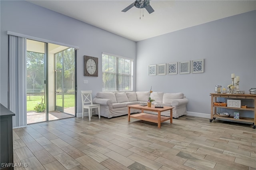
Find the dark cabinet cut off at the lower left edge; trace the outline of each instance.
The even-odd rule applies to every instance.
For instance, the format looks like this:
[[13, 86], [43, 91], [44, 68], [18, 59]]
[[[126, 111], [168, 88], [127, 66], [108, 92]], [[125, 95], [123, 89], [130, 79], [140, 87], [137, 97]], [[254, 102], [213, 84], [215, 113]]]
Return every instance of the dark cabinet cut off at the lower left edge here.
[[[12, 116], [15, 114], [0, 105], [0, 169], [13, 170]], [[8, 163], [10, 166], [5, 167]]]

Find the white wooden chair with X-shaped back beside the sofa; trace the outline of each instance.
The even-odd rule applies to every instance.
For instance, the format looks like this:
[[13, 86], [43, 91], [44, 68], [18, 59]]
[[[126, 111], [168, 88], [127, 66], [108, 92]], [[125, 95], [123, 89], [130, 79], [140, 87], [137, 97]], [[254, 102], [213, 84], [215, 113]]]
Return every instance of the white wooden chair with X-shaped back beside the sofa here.
[[92, 104], [92, 91], [81, 91], [82, 95], [82, 119], [84, 118], [84, 109], [88, 109], [89, 121], [91, 121], [92, 110], [94, 108], [98, 108], [99, 119], [100, 119], [100, 105]]

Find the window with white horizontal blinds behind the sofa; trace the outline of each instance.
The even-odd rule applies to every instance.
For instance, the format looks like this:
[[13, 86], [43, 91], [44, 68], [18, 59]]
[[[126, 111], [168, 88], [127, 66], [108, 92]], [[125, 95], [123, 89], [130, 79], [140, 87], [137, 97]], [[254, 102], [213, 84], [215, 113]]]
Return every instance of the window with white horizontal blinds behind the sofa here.
[[133, 60], [102, 53], [102, 91], [132, 91]]

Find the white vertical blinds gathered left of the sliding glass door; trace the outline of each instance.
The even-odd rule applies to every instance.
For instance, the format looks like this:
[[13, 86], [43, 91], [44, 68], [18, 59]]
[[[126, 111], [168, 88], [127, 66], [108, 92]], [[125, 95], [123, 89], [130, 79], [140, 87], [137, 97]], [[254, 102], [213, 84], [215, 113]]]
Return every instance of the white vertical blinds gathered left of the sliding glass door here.
[[12, 117], [12, 126], [27, 125], [26, 105], [26, 38], [9, 35], [8, 56], [8, 105], [15, 113]]

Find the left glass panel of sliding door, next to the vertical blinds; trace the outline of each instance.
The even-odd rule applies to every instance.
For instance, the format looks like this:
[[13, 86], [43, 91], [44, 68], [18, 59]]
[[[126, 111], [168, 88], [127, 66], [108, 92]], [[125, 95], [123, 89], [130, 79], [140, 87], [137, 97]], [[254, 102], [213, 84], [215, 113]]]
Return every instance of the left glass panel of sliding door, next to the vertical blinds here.
[[27, 124], [46, 121], [46, 43], [27, 40]]

